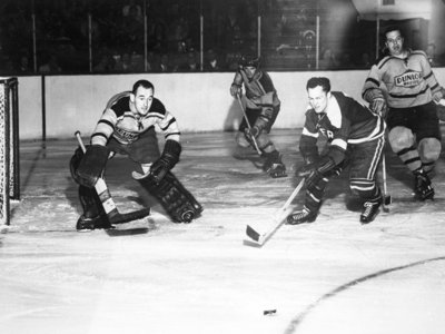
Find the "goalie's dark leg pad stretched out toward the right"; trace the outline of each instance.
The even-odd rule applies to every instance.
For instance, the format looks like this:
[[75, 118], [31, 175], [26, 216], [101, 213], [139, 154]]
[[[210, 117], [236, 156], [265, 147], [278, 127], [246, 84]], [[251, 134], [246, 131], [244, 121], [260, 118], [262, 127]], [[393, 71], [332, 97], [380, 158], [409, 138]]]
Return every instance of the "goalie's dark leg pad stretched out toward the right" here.
[[138, 181], [158, 199], [175, 223], [190, 223], [202, 213], [202, 206], [171, 171], [167, 173], [159, 184], [150, 174]]

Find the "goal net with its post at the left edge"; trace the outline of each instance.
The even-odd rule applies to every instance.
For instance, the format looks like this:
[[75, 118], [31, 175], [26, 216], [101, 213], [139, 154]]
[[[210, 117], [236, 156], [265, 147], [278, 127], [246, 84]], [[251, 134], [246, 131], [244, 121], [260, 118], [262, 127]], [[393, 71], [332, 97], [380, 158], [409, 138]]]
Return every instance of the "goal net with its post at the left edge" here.
[[20, 199], [17, 78], [0, 77], [0, 225], [10, 224], [10, 202]]

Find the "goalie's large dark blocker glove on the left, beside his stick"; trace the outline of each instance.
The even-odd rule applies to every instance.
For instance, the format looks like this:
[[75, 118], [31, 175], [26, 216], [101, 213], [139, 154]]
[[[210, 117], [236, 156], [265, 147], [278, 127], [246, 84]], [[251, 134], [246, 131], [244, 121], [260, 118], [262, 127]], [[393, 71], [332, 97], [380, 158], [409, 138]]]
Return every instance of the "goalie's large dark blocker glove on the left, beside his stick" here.
[[107, 165], [109, 149], [101, 145], [87, 146], [79, 167], [76, 170], [76, 180], [88, 188], [95, 187]]

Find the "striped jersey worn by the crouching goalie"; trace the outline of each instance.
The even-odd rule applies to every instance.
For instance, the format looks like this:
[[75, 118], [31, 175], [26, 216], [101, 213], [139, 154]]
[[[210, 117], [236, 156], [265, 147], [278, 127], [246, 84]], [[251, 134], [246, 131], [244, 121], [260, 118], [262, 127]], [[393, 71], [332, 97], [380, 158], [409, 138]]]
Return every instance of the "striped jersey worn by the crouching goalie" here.
[[178, 124], [160, 100], [154, 98], [148, 112], [142, 116], [131, 104], [130, 94], [131, 91], [120, 92], [108, 101], [91, 136], [92, 145], [105, 146], [111, 137], [120, 144], [128, 145], [155, 126], [159, 127], [166, 139], [179, 141]]

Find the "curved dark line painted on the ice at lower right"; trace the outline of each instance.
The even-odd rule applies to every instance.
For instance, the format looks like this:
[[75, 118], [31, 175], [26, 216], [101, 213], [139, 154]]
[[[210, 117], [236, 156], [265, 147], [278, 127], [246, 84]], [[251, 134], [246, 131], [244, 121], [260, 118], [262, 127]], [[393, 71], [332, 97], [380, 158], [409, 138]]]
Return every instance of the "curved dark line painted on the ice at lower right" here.
[[384, 271], [379, 271], [366, 276], [362, 276], [357, 279], [350, 281], [346, 284], [343, 284], [332, 291], [329, 291], [328, 293], [324, 294], [322, 297], [319, 297], [317, 301], [315, 301], [314, 303], [309, 304], [303, 312], [300, 312], [296, 317], [294, 317], [289, 325], [287, 326], [286, 331], [284, 332], [285, 334], [291, 334], [291, 333], [296, 333], [297, 327], [303, 323], [303, 321], [306, 318], [306, 316], [313, 312], [314, 308], [316, 308], [319, 304], [322, 304], [324, 301], [329, 299], [332, 297], [335, 297], [336, 295], [338, 295], [339, 293], [347, 291], [360, 283], [365, 283], [367, 281], [370, 281], [373, 278], [377, 278], [380, 276], [384, 276], [386, 274], [390, 274], [394, 272], [398, 272], [398, 271], [403, 271], [403, 269], [407, 269], [407, 268], [412, 268], [415, 266], [419, 266], [419, 265], [424, 265], [431, 262], [436, 262], [436, 261], [445, 261], [445, 256], [439, 256], [439, 257], [433, 257], [433, 258], [427, 258], [427, 259], [423, 259], [423, 261], [418, 261], [418, 262], [414, 262], [407, 265], [403, 265], [403, 266], [397, 266], [397, 267], [392, 267], [388, 269], [384, 269]]

